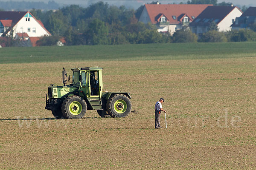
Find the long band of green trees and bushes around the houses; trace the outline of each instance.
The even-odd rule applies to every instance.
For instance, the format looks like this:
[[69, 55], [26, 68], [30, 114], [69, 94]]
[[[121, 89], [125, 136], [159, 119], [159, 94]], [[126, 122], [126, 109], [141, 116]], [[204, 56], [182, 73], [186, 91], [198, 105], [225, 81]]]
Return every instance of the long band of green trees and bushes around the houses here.
[[[200, 1], [200, 2], [199, 2]], [[203, 0], [192, 0], [188, 3], [202, 3]], [[205, 0], [209, 3], [217, 0]], [[157, 3], [153, 1], [151, 4]], [[225, 2], [223, 2], [225, 3]], [[218, 5], [218, 4], [217, 4]], [[38, 45], [55, 45], [60, 37], [65, 38], [65, 45], [101, 45], [101, 44], [141, 44], [168, 42], [226, 42], [255, 41], [256, 29], [218, 32], [215, 23], [207, 33], [198, 37], [189, 29], [176, 31], [173, 35], [160, 34], [155, 25], [138, 22], [144, 6], [137, 10], [125, 6], [110, 6], [98, 2], [87, 8], [70, 5], [56, 11], [32, 9], [30, 12], [37, 20], [44, 23], [52, 34], [38, 41]], [[251, 26], [253, 28], [253, 26]], [[256, 28], [256, 26], [254, 27]]]

